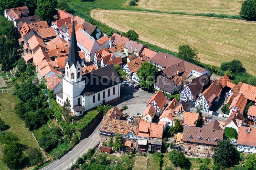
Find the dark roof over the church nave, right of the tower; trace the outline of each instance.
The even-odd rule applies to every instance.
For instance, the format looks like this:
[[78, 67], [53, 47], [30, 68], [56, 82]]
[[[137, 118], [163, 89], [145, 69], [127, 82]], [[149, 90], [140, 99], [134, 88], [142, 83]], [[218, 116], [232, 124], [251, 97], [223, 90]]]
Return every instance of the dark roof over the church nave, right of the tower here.
[[113, 64], [89, 72], [82, 79], [85, 79], [85, 87], [81, 93], [83, 96], [90, 96], [120, 83]]

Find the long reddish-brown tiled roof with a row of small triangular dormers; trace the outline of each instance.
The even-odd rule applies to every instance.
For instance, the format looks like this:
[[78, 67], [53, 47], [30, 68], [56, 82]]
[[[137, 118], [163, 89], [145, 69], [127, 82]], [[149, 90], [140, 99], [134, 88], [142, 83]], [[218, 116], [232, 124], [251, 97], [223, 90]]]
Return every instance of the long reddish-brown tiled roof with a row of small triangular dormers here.
[[[198, 127], [192, 127], [192, 126], [185, 126], [183, 129], [183, 141], [188, 142], [197, 142], [197, 143], [206, 143], [206, 144], [212, 144], [217, 145], [218, 141], [223, 139], [223, 130], [212, 130], [208, 128], [198, 128]], [[192, 138], [189, 138], [192, 136]], [[202, 140], [199, 140], [199, 137], [202, 138]], [[207, 138], [210, 138], [210, 140], [206, 140]], [[215, 139], [218, 139], [218, 141], [215, 141]]]

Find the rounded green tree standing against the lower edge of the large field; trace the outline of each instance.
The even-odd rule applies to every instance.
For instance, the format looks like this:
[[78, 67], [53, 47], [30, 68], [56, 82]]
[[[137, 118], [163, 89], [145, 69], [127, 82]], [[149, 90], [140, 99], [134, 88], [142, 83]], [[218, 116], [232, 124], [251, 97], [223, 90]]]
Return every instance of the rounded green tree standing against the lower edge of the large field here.
[[200, 63], [200, 58], [198, 57], [198, 52], [196, 48], [191, 48], [187, 44], [179, 46], [179, 52], [177, 54], [177, 57], [193, 64]]

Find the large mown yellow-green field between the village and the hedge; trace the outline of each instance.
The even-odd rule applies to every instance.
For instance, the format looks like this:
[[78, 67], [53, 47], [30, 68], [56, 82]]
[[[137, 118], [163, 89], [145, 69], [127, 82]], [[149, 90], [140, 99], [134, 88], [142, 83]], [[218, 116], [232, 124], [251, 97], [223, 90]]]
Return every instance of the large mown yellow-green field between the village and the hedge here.
[[198, 50], [201, 62], [220, 66], [239, 59], [256, 75], [256, 22], [238, 19], [160, 14], [140, 11], [92, 10], [91, 16], [112, 28], [130, 29], [139, 39], [178, 52], [189, 44]]

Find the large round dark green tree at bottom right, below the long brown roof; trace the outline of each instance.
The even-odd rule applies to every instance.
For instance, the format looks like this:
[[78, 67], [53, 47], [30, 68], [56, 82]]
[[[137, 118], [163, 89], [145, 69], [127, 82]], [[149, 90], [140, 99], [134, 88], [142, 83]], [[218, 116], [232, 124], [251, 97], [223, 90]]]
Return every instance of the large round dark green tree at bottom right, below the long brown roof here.
[[214, 151], [212, 158], [221, 168], [230, 167], [238, 162], [239, 155], [228, 140], [219, 141]]

